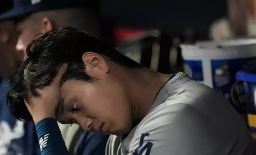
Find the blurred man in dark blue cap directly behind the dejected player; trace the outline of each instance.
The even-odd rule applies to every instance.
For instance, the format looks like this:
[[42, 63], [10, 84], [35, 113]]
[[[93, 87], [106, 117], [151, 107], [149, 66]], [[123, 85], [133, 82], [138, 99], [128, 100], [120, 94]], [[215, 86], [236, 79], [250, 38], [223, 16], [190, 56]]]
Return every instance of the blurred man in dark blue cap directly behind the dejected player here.
[[[16, 49], [23, 53], [23, 57], [26, 57], [25, 51], [28, 43], [35, 39], [37, 34], [55, 28], [75, 26], [100, 37], [97, 1], [62, 0], [60, 3], [52, 0], [14, 0], [13, 2], [14, 7], [0, 15], [0, 20], [15, 21], [18, 32]], [[58, 125], [70, 153], [78, 155], [105, 153], [105, 145], [109, 136], [82, 132], [78, 125], [60, 123]]]

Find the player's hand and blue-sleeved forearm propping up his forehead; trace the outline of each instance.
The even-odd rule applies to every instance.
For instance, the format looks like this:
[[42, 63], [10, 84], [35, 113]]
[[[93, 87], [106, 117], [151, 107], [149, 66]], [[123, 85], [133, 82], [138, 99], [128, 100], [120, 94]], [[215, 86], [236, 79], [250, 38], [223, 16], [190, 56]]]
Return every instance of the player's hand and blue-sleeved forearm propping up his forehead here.
[[36, 125], [42, 155], [68, 155], [58, 123], [54, 119], [60, 102], [60, 81], [66, 67], [66, 64], [62, 65], [50, 86], [36, 89], [39, 96], [33, 96], [29, 92], [24, 98], [27, 110]]

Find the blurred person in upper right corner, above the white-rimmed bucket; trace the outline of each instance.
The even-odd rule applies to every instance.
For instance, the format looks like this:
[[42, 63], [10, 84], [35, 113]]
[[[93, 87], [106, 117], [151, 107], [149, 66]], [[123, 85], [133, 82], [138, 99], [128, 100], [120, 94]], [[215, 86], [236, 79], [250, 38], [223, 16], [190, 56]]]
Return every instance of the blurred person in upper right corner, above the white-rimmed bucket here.
[[227, 0], [228, 17], [215, 21], [209, 28], [212, 40], [256, 36], [255, 0]]

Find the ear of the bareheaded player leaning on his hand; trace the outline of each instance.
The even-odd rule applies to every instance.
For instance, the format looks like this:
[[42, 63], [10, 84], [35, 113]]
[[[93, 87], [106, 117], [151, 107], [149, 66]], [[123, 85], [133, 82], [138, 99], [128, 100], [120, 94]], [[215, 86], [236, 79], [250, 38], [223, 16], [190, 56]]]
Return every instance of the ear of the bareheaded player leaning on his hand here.
[[85, 52], [82, 56], [83, 63], [85, 64], [86, 72], [99, 72], [107, 74], [109, 72], [109, 66], [105, 59], [94, 52]]

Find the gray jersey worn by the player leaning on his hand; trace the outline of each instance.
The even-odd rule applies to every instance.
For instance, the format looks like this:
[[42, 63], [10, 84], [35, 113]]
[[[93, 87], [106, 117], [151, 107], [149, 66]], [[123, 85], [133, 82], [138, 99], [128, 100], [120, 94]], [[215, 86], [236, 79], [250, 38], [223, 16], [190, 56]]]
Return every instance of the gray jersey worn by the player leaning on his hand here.
[[[111, 140], [107, 144], [117, 145]], [[231, 104], [181, 72], [161, 88], [144, 119], [121, 138], [121, 149], [123, 155], [256, 155], [256, 144]], [[112, 153], [107, 155], [118, 154]]]

